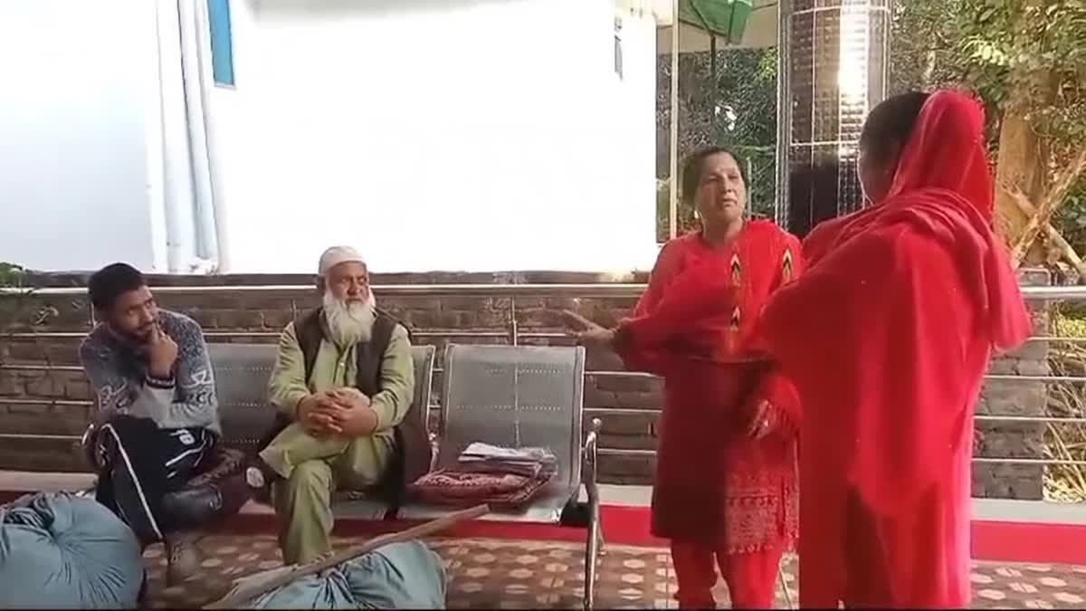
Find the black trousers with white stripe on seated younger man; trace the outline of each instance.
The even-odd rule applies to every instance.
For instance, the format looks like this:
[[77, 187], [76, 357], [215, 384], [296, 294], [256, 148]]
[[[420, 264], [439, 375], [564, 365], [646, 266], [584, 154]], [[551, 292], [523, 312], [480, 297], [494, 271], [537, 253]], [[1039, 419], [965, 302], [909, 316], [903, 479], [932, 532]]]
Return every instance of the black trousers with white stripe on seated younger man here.
[[199, 473], [217, 438], [206, 428], [159, 428], [150, 419], [118, 415], [96, 439], [99, 502], [110, 508], [143, 545], [184, 527], [163, 511], [163, 498]]

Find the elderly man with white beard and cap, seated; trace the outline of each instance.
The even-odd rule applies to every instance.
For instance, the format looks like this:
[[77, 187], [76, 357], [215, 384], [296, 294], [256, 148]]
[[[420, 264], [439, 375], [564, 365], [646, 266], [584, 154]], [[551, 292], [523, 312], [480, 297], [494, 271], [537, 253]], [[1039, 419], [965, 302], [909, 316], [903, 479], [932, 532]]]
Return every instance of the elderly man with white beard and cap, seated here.
[[415, 387], [407, 329], [377, 309], [354, 249], [325, 251], [317, 289], [323, 306], [283, 329], [268, 385], [286, 427], [245, 474], [273, 486], [287, 564], [331, 551], [334, 489], [389, 478]]

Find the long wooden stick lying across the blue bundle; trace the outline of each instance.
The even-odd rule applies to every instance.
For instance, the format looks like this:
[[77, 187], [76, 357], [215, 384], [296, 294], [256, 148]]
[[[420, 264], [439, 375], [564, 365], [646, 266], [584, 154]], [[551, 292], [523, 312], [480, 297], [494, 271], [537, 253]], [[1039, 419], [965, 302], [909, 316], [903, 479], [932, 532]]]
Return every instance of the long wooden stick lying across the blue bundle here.
[[348, 560], [352, 560], [364, 553], [374, 551], [375, 549], [381, 546], [426, 537], [439, 531], [444, 531], [445, 528], [449, 528], [450, 526], [453, 526], [458, 522], [464, 522], [465, 520], [475, 520], [476, 518], [480, 518], [482, 515], [485, 515], [487, 513], [490, 513], [490, 508], [487, 507], [485, 504], [480, 504], [472, 507], [471, 509], [465, 509], [463, 511], [456, 511], [450, 513], [449, 515], [439, 518], [431, 522], [427, 522], [426, 524], [412, 526], [406, 531], [400, 531], [399, 533], [389, 533], [386, 535], [374, 537], [372, 539], [369, 539], [368, 541], [359, 546], [343, 550], [341, 552], [333, 553], [326, 559], [317, 560], [316, 562], [311, 562], [308, 564], [296, 566], [293, 571], [289, 571], [281, 575], [277, 575], [261, 583], [235, 588], [233, 590], [228, 593], [223, 598], [216, 600], [215, 602], [205, 604], [204, 609], [236, 609], [241, 603], [248, 602], [256, 598], [257, 596], [269, 593], [276, 588], [282, 587], [299, 577], [320, 573], [321, 571], [331, 569], [337, 564], [341, 564], [343, 562], [346, 562]]

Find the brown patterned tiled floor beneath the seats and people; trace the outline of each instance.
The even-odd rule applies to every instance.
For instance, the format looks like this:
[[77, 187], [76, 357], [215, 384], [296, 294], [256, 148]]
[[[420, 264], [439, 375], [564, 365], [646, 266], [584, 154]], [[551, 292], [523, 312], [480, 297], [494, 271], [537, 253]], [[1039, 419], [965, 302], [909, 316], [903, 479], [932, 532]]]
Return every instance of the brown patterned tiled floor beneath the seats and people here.
[[[580, 608], [583, 547], [566, 543], [497, 539], [430, 539], [449, 570], [451, 609]], [[357, 540], [338, 539], [338, 546]], [[161, 547], [148, 550], [150, 604], [197, 608], [225, 594], [239, 575], [278, 566], [275, 538], [212, 536], [201, 543], [203, 571], [182, 586], [165, 588]], [[795, 600], [794, 563], [784, 579]], [[664, 549], [608, 547], [599, 568], [596, 606], [602, 609], [674, 608], [674, 572]], [[977, 563], [973, 570], [976, 609], [1081, 609], [1086, 603], [1086, 568], [1048, 564]], [[785, 607], [779, 589], [778, 606]], [[727, 591], [718, 593], [721, 606]]]

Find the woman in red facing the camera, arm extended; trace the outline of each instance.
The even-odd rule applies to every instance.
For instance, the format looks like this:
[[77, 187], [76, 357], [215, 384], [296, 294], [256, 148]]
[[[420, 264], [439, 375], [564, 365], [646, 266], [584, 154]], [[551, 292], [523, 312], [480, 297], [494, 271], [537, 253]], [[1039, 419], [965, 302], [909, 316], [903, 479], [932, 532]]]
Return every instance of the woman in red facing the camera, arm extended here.
[[653, 534], [671, 539], [682, 608], [714, 608], [719, 566], [733, 608], [773, 604], [781, 554], [798, 525], [795, 390], [750, 358], [771, 292], [798, 275], [799, 242], [744, 221], [735, 157], [695, 153], [683, 171], [702, 229], [669, 241], [633, 317], [608, 331], [573, 315], [580, 337], [665, 379]]

